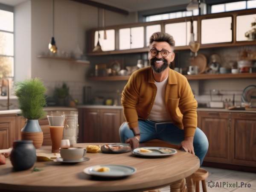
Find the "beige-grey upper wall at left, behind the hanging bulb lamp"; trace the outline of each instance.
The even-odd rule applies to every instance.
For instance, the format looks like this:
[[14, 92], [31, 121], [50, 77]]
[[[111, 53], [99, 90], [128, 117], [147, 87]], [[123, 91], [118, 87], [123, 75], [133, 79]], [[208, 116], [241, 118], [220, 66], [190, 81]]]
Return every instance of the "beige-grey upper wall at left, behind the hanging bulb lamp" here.
[[[126, 16], [110, 11], [105, 14], [106, 26], [135, 21], [135, 14]], [[87, 32], [98, 26], [98, 8], [70, 0], [55, 0], [54, 15], [58, 55], [62, 52], [71, 55], [77, 46], [86, 53], [85, 45], [90, 38]], [[55, 86], [65, 81], [70, 86], [73, 98], [82, 102], [82, 87], [91, 85], [85, 76], [89, 65], [38, 58], [38, 55], [49, 54], [51, 37], [52, 0], [27, 0], [15, 7], [15, 81], [30, 77], [41, 78], [49, 96]]]

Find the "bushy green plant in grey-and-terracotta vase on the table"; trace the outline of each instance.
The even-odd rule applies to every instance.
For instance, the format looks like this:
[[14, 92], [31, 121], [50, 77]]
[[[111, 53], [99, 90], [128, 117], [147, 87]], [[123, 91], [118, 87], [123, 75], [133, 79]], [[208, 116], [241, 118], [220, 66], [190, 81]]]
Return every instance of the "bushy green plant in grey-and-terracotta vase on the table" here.
[[27, 119], [26, 125], [21, 129], [22, 140], [33, 140], [35, 148], [43, 143], [43, 132], [38, 123], [46, 115], [46, 87], [38, 78], [26, 79], [16, 82], [15, 96], [17, 96], [21, 115]]

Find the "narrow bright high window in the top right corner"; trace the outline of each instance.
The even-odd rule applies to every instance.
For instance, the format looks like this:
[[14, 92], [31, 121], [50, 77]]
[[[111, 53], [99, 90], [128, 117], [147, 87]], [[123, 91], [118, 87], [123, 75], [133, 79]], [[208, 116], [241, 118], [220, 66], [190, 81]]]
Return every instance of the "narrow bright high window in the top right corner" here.
[[241, 9], [256, 8], [256, 0], [238, 1], [233, 3], [223, 3], [211, 6], [211, 13], [229, 12]]

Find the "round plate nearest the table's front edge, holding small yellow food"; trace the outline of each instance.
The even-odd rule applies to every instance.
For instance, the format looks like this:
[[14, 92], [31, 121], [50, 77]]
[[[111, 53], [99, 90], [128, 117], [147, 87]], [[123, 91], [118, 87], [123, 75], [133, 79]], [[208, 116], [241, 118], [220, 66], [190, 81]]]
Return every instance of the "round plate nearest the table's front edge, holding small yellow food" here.
[[[94, 170], [96, 167], [108, 167], [110, 171], [97, 172], [96, 170]], [[126, 177], [129, 175], [133, 175], [136, 171], [137, 169], [134, 167], [116, 164], [96, 165], [84, 169], [84, 173], [86, 173], [87, 175], [97, 177]]]

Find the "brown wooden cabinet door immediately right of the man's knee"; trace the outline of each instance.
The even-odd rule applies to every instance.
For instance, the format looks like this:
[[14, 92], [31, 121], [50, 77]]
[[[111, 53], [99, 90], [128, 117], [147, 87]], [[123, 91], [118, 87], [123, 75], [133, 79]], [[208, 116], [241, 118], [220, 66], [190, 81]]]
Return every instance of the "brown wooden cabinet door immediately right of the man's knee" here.
[[204, 160], [231, 163], [229, 113], [198, 111], [198, 128], [209, 141]]

